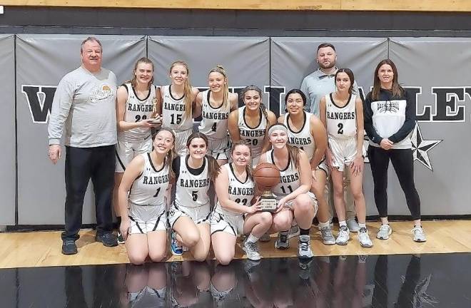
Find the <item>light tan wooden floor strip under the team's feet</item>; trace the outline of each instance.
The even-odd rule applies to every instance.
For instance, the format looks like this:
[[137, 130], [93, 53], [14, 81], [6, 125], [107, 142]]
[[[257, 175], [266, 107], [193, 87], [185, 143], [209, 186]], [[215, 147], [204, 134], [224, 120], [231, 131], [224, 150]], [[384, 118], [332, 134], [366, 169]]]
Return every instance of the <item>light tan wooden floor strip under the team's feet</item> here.
[[[360, 247], [356, 234], [350, 233], [348, 245], [325, 246], [320, 242], [320, 232], [311, 229], [311, 245], [316, 256], [332, 255], [397, 255], [471, 252], [471, 221], [441, 220], [422, 222], [427, 242], [412, 241], [412, 222], [390, 222], [393, 235], [390, 240], [378, 240], [379, 222], [368, 222], [368, 230], [373, 240], [373, 248]], [[334, 228], [337, 235], [338, 227]], [[0, 268], [14, 267], [49, 267], [66, 265], [107, 265], [128, 263], [126, 247], [103, 247], [94, 241], [93, 230], [82, 230], [77, 242], [78, 254], [66, 256], [61, 254], [60, 232], [11, 232], [0, 234]], [[297, 238], [291, 239], [289, 250], [275, 250], [275, 235], [270, 242], [260, 243], [263, 257], [295, 257], [297, 254]], [[191, 260], [186, 252], [183, 256], [172, 256], [168, 252], [167, 261]], [[210, 257], [213, 255], [210, 253]], [[244, 258], [240, 247], [236, 248], [236, 258]]]

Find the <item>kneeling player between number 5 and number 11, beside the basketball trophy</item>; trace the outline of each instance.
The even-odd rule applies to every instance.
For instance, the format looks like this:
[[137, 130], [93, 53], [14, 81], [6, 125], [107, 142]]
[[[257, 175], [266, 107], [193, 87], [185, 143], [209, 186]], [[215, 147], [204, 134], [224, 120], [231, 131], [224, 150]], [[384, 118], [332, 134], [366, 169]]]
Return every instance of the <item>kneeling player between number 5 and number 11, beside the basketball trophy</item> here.
[[216, 260], [228, 265], [234, 258], [238, 235], [245, 234], [242, 248], [250, 260], [260, 260], [258, 239], [270, 229], [272, 217], [260, 212], [259, 203], [250, 206], [255, 192], [250, 146], [244, 141], [233, 144], [233, 163], [221, 167], [216, 178], [218, 204], [211, 217], [211, 241]]

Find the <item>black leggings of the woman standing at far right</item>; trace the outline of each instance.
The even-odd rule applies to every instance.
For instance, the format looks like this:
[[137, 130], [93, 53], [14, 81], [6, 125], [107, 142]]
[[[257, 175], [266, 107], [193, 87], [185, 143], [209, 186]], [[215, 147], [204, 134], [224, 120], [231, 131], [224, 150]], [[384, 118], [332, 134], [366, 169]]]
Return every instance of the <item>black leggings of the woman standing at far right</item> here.
[[414, 184], [414, 158], [411, 149], [384, 150], [370, 145], [368, 147], [373, 183], [375, 184], [375, 202], [380, 217], [388, 217], [388, 165], [389, 160], [405, 195], [407, 207], [413, 220], [420, 219], [420, 198]]

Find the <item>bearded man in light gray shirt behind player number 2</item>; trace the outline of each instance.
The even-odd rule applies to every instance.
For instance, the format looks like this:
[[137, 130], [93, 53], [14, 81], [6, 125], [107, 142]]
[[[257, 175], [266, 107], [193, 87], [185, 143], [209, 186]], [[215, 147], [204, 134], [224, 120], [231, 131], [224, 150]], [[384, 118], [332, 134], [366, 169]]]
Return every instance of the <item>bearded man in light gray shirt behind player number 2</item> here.
[[[337, 66], [335, 66], [335, 61], [337, 61], [335, 47], [330, 43], [321, 43], [318, 46], [316, 61], [319, 64], [319, 68], [317, 71], [305, 76], [301, 83], [301, 91], [303, 91], [306, 96], [306, 110], [319, 116], [320, 98], [328, 93], [335, 92], [335, 73], [338, 71]], [[356, 81], [353, 83], [353, 93], [358, 93]], [[348, 173], [344, 173], [344, 176], [345, 175], [348, 178]], [[348, 182], [350, 182], [350, 180], [348, 180]], [[346, 195], [347, 225], [350, 231], [358, 232], [360, 227], [355, 221], [355, 205], [350, 189], [347, 189]], [[330, 217], [333, 217], [333, 201], [330, 198], [328, 198], [328, 200], [330, 200]]]

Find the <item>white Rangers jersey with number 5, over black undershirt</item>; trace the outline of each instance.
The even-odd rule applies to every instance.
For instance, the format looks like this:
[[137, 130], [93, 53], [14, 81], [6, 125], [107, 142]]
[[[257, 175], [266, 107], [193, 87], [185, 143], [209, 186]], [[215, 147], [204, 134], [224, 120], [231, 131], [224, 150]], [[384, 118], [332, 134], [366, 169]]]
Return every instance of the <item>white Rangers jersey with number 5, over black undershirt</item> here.
[[193, 175], [188, 169], [187, 157], [177, 158], [180, 160], [180, 175], [176, 182], [175, 204], [177, 207], [208, 205], [208, 190], [211, 184], [208, 158], [204, 158], [203, 171], [198, 175]]

